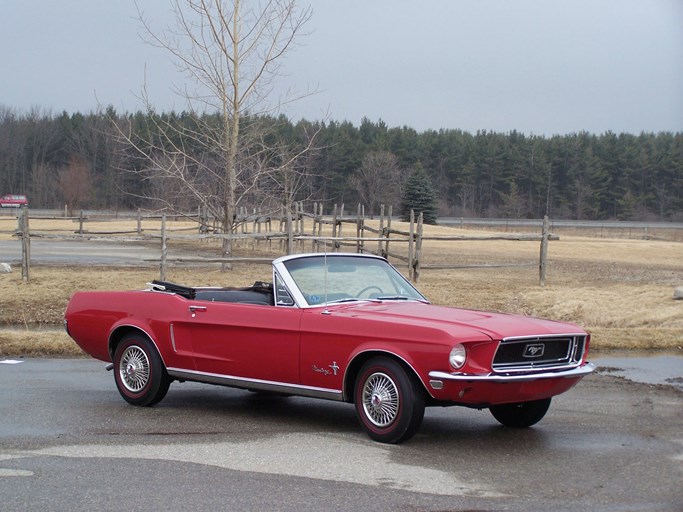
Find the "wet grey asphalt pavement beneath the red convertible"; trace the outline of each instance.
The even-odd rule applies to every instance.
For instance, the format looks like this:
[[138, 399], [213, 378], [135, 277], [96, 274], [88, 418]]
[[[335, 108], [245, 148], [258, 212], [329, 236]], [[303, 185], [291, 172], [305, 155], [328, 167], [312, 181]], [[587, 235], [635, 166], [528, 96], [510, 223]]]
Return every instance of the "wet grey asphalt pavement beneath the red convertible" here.
[[103, 363], [0, 364], [0, 510], [683, 510], [683, 393], [592, 375], [526, 430], [428, 409], [400, 446], [347, 404], [173, 383], [127, 405]]

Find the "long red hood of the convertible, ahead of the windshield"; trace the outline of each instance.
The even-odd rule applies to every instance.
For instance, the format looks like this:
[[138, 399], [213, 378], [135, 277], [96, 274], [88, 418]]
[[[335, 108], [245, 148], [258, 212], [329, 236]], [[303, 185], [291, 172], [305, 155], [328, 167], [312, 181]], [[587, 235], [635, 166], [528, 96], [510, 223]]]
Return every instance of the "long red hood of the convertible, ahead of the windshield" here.
[[510, 337], [547, 336], [555, 334], [583, 334], [580, 327], [570, 323], [540, 318], [493, 313], [421, 302], [360, 302], [328, 307], [335, 316], [344, 315], [376, 322], [404, 323], [439, 329], [454, 337], [485, 334], [494, 340]]

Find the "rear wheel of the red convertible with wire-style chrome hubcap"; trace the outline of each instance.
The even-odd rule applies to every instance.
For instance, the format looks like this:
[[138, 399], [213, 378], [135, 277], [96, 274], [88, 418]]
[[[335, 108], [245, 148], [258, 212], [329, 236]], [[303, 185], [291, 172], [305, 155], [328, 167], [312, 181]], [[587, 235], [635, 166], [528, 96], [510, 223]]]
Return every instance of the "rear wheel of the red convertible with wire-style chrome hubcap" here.
[[156, 347], [140, 334], [126, 336], [116, 347], [114, 379], [123, 399], [133, 405], [159, 403], [171, 384]]

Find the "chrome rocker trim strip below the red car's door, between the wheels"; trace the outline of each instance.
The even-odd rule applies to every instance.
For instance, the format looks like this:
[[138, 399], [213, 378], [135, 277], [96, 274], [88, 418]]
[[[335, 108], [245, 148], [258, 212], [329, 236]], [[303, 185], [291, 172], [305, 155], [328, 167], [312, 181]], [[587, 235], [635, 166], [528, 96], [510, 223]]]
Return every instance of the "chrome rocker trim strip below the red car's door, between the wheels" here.
[[288, 395], [307, 396], [311, 398], [324, 398], [342, 402], [344, 400], [341, 390], [316, 388], [312, 386], [302, 386], [300, 384], [287, 384], [261, 379], [248, 379], [236, 377], [234, 375], [221, 375], [218, 373], [206, 373], [184, 368], [167, 368], [166, 371], [171, 377], [179, 380], [192, 380], [217, 384], [241, 389], [255, 389], [258, 391], [271, 391], [274, 393], [285, 393]]

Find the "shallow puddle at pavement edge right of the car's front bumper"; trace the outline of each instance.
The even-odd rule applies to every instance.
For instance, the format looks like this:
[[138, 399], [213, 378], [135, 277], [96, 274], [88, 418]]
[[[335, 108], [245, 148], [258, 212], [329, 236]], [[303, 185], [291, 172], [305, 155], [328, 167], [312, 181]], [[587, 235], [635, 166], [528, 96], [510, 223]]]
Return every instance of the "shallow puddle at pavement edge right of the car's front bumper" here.
[[666, 352], [600, 351], [588, 359], [603, 374], [644, 384], [666, 384], [683, 390], [683, 350]]

